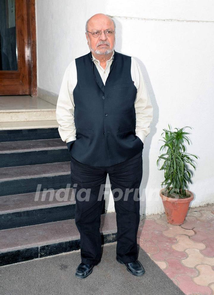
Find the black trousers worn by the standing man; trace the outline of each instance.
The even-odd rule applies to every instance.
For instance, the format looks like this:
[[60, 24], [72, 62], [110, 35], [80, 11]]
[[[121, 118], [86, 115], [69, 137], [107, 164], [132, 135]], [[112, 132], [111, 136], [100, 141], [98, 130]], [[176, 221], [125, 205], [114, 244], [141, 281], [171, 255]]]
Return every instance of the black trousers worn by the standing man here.
[[[75, 224], [80, 233], [81, 262], [85, 264], [96, 264], [101, 258], [100, 215], [107, 173], [117, 220], [116, 256], [123, 262], [137, 259], [142, 152], [109, 167], [88, 166], [71, 156], [71, 185], [75, 189], [76, 200]], [[130, 190], [129, 194], [126, 189]]]

